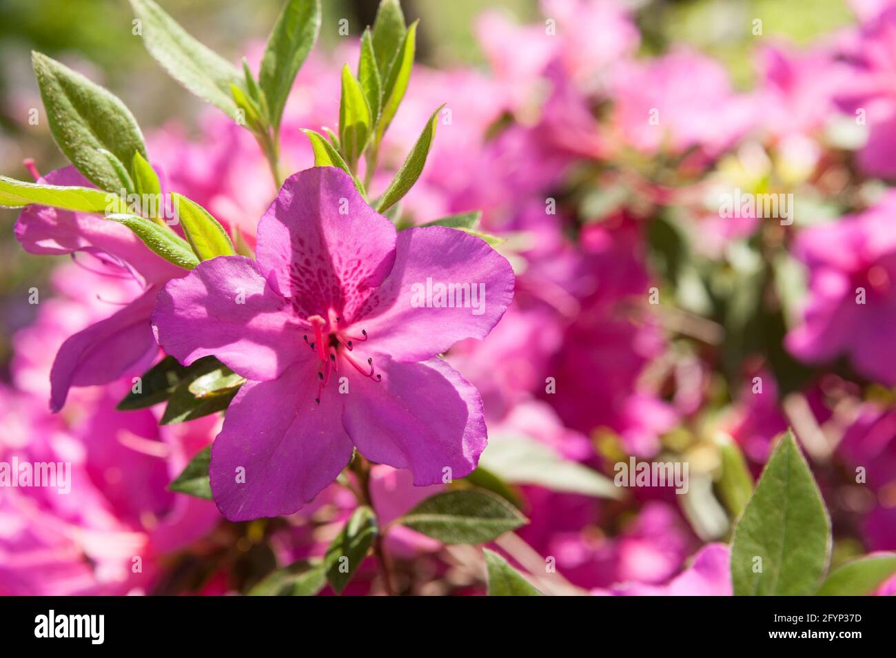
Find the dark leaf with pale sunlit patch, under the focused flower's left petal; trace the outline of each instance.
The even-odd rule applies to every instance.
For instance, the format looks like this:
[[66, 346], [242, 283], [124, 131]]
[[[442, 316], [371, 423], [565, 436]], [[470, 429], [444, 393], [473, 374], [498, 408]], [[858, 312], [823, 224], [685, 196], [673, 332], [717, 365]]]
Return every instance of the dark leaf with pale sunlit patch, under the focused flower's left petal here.
[[224, 411], [244, 381], [231, 377], [232, 374], [233, 371], [213, 356], [197, 360], [168, 397], [168, 406], [159, 424], [185, 423]]

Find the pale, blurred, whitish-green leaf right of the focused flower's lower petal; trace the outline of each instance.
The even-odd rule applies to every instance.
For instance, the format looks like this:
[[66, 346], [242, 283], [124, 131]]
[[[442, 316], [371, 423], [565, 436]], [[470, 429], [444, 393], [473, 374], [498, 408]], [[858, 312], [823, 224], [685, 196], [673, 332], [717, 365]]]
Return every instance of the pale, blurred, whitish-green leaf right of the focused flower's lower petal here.
[[556, 450], [525, 436], [494, 436], [479, 457], [479, 465], [507, 483], [538, 484], [552, 491], [598, 498], [622, 498], [612, 480]]

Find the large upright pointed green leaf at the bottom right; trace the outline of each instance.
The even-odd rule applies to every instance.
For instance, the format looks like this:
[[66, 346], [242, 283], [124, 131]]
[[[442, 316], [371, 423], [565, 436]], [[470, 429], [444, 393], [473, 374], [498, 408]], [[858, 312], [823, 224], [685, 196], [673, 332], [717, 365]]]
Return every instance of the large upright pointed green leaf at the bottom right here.
[[830, 555], [831, 519], [788, 431], [737, 522], [731, 546], [734, 593], [813, 594]]

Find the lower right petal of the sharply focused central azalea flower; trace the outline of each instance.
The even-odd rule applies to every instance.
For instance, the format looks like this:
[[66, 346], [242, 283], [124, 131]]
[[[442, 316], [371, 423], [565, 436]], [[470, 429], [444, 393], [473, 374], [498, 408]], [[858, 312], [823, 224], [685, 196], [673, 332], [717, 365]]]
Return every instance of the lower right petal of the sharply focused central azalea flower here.
[[[422, 363], [375, 360], [382, 381], [349, 378], [342, 422], [368, 459], [407, 468], [414, 484], [443, 482], [476, 468], [486, 447], [482, 398], [440, 358]], [[332, 397], [332, 396], [331, 396]]]

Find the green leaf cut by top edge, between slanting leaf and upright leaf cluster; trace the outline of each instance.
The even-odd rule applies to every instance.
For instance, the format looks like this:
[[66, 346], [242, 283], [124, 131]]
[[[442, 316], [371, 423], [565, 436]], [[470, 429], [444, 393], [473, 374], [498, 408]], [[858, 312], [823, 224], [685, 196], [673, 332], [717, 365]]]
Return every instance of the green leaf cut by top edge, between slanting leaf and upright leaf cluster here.
[[271, 125], [280, 128], [283, 107], [296, 74], [321, 30], [320, 0], [288, 0], [264, 49], [258, 81], [267, 98]]

